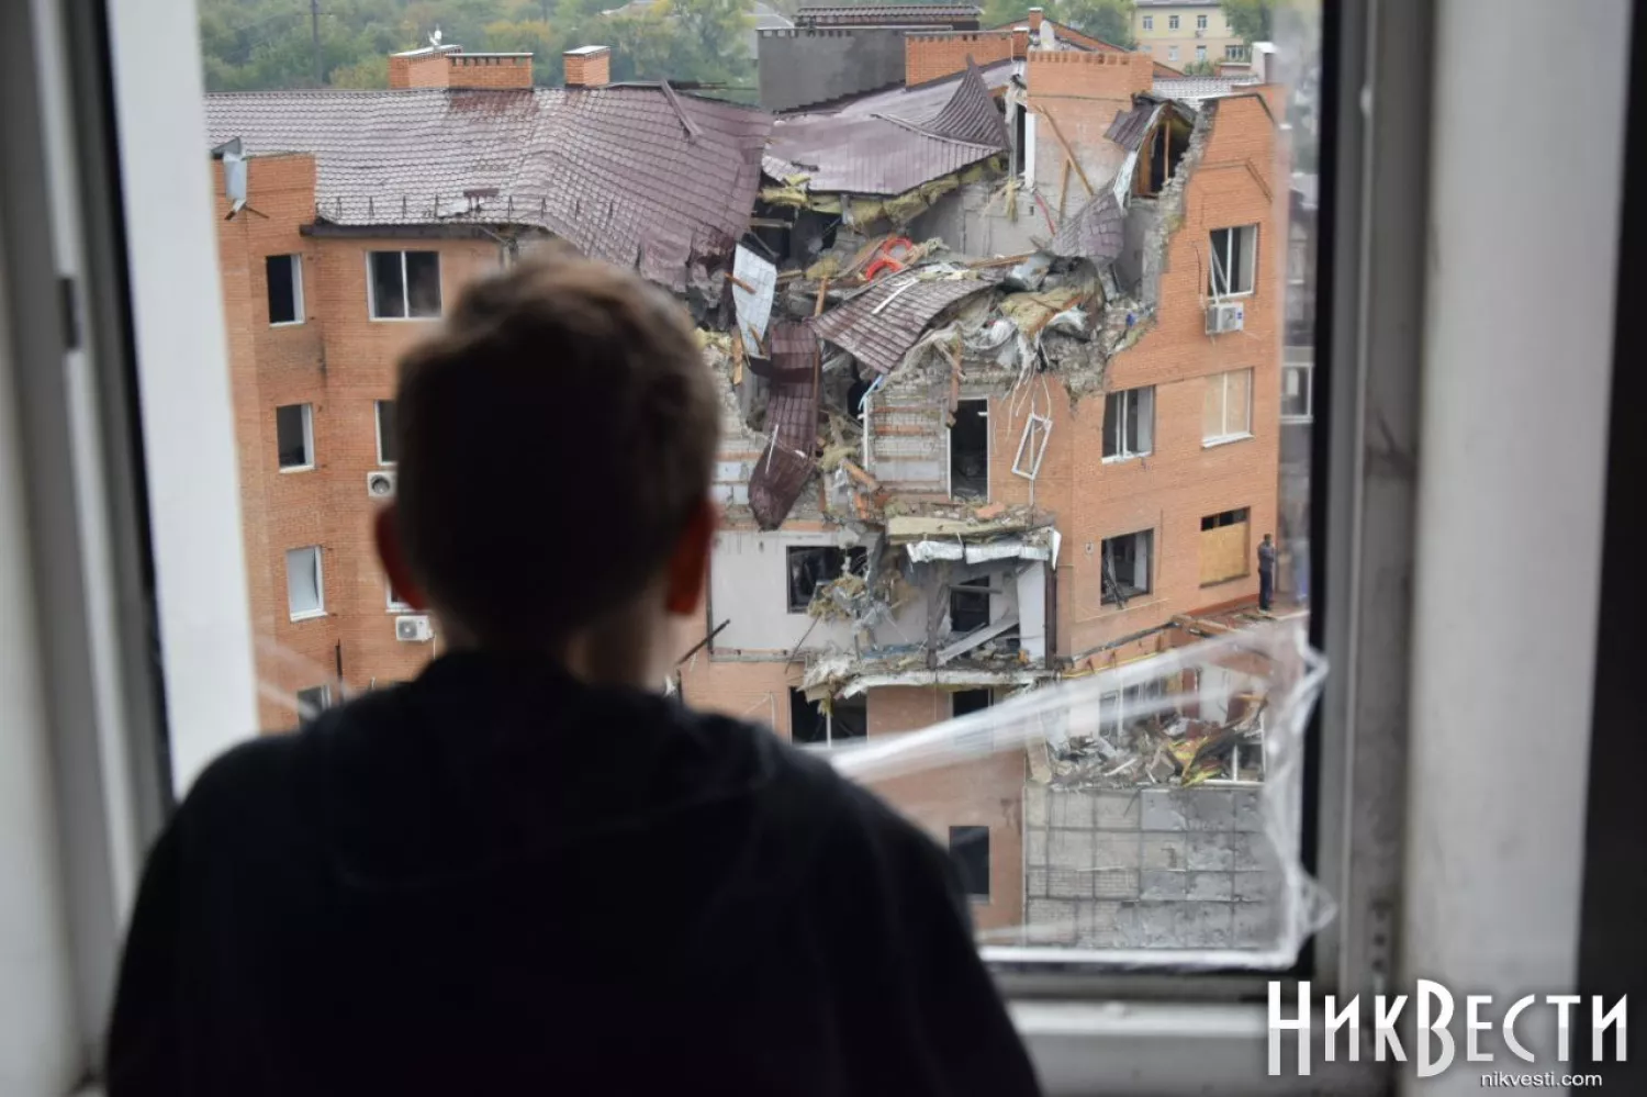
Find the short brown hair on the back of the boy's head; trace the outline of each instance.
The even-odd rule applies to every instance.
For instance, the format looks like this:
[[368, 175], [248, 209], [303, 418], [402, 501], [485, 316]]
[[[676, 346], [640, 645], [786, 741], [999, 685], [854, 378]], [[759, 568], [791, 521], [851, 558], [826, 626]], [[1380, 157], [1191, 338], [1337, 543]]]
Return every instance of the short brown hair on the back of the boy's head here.
[[720, 408], [670, 298], [557, 250], [463, 293], [402, 359], [395, 418], [412, 575], [481, 642], [537, 647], [664, 567]]

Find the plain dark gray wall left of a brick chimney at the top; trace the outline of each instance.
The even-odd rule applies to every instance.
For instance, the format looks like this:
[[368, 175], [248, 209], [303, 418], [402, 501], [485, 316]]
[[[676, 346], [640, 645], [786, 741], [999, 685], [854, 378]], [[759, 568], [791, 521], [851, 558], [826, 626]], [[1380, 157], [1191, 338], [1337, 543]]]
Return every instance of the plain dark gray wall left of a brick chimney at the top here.
[[761, 107], [794, 110], [904, 79], [904, 30], [797, 26], [761, 31]]

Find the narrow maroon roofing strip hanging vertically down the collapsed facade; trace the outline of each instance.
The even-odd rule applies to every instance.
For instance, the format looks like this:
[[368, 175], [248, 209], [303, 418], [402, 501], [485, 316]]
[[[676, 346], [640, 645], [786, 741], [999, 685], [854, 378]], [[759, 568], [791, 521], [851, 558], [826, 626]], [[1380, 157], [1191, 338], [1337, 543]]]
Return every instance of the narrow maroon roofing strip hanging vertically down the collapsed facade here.
[[771, 441], [749, 476], [749, 511], [761, 529], [777, 529], [812, 474], [819, 430], [819, 384], [814, 376], [819, 341], [805, 323], [776, 321], [771, 328], [772, 366], [779, 377], [766, 405]]

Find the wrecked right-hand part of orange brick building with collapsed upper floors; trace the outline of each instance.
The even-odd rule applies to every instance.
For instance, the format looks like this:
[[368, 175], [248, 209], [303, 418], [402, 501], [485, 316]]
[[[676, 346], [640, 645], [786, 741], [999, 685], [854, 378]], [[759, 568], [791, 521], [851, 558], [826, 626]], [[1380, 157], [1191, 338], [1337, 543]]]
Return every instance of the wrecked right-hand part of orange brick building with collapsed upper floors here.
[[[738, 323], [707, 336], [726, 522], [680, 689], [800, 743], [924, 728], [1239, 626], [1276, 522], [1273, 89], [1176, 99], [1148, 56], [1039, 18], [916, 31], [906, 51], [922, 81], [777, 119]], [[1247, 880], [1234, 891], [1237, 863], [1260, 871], [1232, 852], [1250, 814], [1211, 840], [1227, 878], [1196, 888], [1187, 847], [1146, 863], [1176, 847], [1140, 830], [1136, 791], [1131, 822], [1107, 824], [1130, 842], [1082, 838], [1082, 863], [1051, 871], [1049, 804], [1069, 802], [1052, 792], [1257, 787], [1257, 695], [1186, 708], [1183, 738], [1127, 758], [1156, 702], [1194, 689], [1173, 670], [1107, 697], [1102, 766], [1041, 743], [883, 791], [949, 840], [987, 939], [1028, 922], [1061, 944], [1240, 944], [1273, 914], [1240, 906], [1260, 898]], [[1197, 906], [1138, 914], [1174, 901]]]

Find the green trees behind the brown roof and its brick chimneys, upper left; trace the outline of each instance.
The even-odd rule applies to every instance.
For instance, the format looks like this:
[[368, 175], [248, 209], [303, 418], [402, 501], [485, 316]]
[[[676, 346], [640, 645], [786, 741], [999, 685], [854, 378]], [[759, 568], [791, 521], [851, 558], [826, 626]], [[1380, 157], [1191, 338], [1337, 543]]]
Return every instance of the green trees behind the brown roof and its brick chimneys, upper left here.
[[[562, 53], [613, 48], [613, 79], [751, 87], [746, 0], [321, 0], [324, 82], [387, 87], [389, 54], [441, 40], [471, 51], [534, 54], [532, 77], [558, 84]], [[606, 12], [613, 12], [608, 15]], [[315, 86], [308, 0], [201, 0], [208, 91]]]

